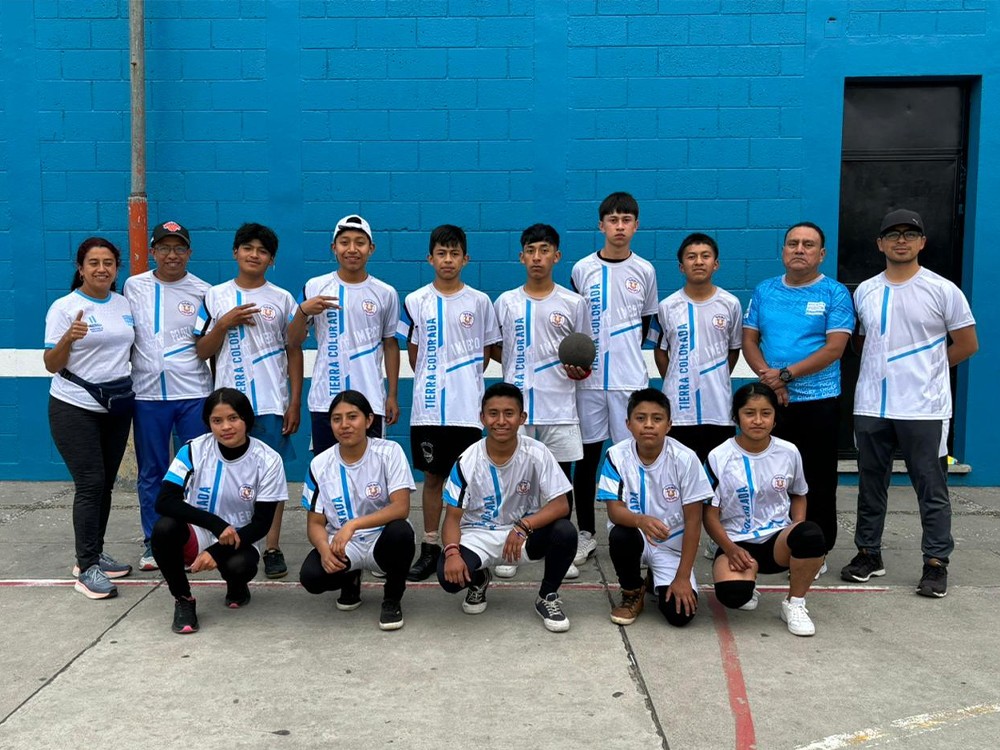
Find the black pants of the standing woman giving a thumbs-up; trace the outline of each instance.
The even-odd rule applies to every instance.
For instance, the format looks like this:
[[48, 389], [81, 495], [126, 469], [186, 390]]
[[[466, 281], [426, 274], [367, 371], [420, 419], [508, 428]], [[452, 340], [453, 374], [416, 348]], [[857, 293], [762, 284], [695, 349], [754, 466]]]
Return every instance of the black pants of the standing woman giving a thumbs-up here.
[[96, 565], [104, 551], [104, 533], [128, 442], [132, 415], [113, 417], [49, 397], [49, 429], [75, 485], [73, 533], [80, 570]]

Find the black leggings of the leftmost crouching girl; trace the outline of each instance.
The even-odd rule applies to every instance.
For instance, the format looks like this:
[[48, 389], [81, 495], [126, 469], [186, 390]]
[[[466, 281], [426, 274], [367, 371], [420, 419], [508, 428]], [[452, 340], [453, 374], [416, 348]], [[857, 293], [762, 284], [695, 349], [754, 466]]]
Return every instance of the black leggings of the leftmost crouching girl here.
[[[191, 536], [190, 527], [176, 518], [161, 516], [153, 527], [150, 544], [153, 557], [160, 566], [160, 573], [174, 597], [191, 596], [191, 584], [184, 572], [184, 547]], [[238, 549], [224, 544], [213, 544], [206, 550], [218, 566], [229, 594], [237, 595], [257, 575], [260, 554], [252, 544], [241, 544]], [[234, 596], [234, 598], [241, 598]]]

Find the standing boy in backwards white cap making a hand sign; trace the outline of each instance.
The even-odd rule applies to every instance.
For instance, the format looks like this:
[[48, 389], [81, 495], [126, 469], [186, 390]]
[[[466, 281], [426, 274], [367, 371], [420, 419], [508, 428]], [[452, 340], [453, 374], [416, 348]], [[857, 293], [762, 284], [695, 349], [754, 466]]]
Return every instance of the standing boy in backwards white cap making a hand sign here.
[[[385, 427], [399, 419], [399, 297], [366, 270], [375, 252], [371, 226], [360, 216], [345, 216], [337, 222], [330, 249], [337, 270], [306, 282], [288, 327], [289, 338], [300, 343], [308, 326], [316, 333], [307, 404], [317, 456], [336, 442], [329, 411], [341, 391], [360, 391], [372, 404], [371, 437], [384, 437]], [[388, 392], [382, 382], [383, 359]]]

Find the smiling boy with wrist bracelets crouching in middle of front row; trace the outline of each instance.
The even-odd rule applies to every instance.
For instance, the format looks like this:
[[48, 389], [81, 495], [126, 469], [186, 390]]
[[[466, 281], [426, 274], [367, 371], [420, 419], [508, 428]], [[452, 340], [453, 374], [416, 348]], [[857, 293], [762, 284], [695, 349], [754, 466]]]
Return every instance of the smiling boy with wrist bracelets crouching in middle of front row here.
[[535, 612], [547, 630], [565, 632], [559, 585], [576, 552], [566, 518], [572, 487], [551, 451], [519, 434], [526, 415], [516, 386], [491, 385], [480, 413], [486, 437], [462, 453], [445, 486], [438, 581], [451, 594], [468, 588], [462, 610], [477, 615], [486, 610], [491, 565], [544, 559]]

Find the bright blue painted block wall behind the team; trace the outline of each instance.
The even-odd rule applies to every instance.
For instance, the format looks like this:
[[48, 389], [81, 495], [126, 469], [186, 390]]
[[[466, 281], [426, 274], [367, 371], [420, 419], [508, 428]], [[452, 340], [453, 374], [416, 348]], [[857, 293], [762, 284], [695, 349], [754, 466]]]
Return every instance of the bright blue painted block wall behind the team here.
[[[127, 244], [127, 7], [0, 4], [0, 348], [41, 348], [83, 237]], [[989, 125], [1000, 122], [998, 9], [147, 0], [150, 217], [192, 229], [191, 270], [211, 282], [233, 273], [238, 224], [270, 224], [281, 237], [272, 280], [297, 290], [328, 270], [336, 219], [360, 212], [376, 233], [371, 271], [401, 293], [431, 278], [427, 232], [458, 223], [470, 236], [466, 281], [495, 296], [522, 278], [524, 226], [563, 233], [565, 282], [598, 245], [600, 199], [624, 189], [640, 201], [635, 248], [655, 262], [661, 297], [679, 285], [681, 237], [708, 230], [722, 246], [719, 283], [745, 301], [780, 272], [781, 231], [800, 219], [826, 228], [835, 273], [845, 78], [968, 76], [965, 291], [983, 351], [960, 375], [957, 452], [970, 481], [1000, 484], [990, 429], [1000, 320], [986, 302], [1000, 282], [987, 231], [1000, 175], [985, 168], [1000, 163]], [[47, 382], [0, 384], [0, 479], [64, 477]]]

